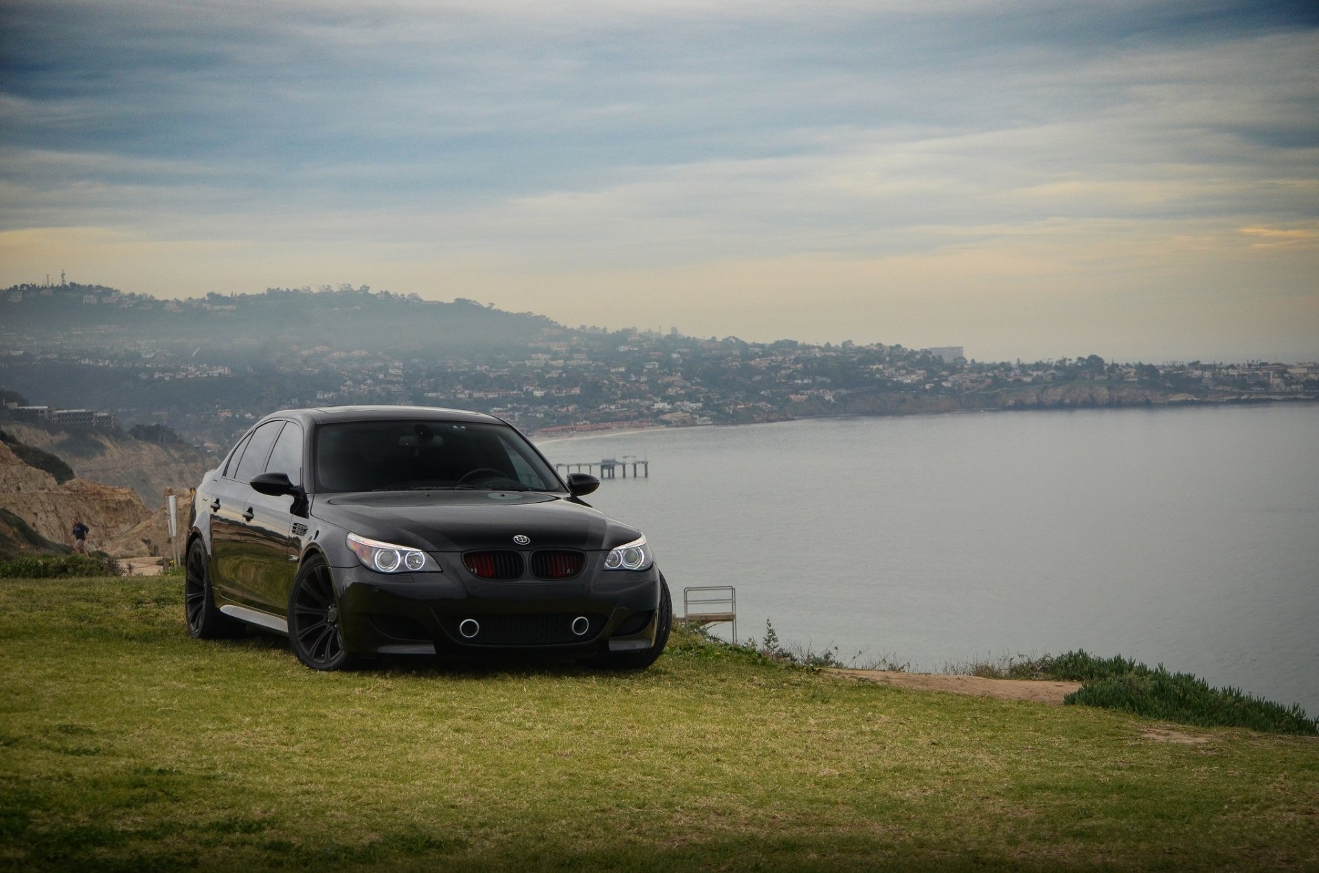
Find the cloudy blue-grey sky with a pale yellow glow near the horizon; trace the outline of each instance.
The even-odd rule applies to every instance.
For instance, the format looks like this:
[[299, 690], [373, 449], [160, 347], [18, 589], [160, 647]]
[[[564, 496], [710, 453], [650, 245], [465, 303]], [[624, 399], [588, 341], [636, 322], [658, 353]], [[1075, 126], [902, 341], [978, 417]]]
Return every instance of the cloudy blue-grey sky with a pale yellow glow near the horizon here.
[[1319, 359], [1319, 4], [4, 0], [0, 285]]

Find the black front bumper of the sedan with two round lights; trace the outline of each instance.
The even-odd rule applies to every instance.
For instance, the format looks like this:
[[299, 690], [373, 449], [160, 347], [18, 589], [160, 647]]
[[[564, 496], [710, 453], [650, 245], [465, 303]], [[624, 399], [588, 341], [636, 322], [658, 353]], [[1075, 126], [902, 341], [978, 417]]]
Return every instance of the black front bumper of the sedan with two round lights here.
[[[491, 582], [454, 572], [385, 575], [365, 567], [332, 572], [344, 647], [359, 654], [588, 657], [654, 645], [656, 567], [563, 582]], [[576, 621], [582, 617], [586, 622]]]

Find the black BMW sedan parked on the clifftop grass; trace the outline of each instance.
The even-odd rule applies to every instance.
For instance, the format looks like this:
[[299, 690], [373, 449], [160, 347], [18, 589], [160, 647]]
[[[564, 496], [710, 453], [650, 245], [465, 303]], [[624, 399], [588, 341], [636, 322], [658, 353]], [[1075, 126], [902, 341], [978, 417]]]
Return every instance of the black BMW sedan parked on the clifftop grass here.
[[673, 607], [641, 531], [582, 501], [479, 413], [273, 413], [206, 473], [187, 534], [189, 632], [288, 634], [313, 670], [375, 654], [526, 651], [648, 667]]

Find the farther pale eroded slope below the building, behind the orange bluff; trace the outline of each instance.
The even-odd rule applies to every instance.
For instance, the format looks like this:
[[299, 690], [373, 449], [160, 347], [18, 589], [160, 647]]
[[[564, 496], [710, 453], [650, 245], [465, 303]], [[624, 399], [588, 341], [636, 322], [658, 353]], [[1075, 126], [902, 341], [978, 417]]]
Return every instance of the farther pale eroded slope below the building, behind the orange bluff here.
[[150, 443], [94, 430], [49, 431], [5, 422], [15, 438], [65, 459], [79, 479], [132, 488], [149, 508], [161, 505], [168, 488], [195, 488], [212, 460], [197, 448]]

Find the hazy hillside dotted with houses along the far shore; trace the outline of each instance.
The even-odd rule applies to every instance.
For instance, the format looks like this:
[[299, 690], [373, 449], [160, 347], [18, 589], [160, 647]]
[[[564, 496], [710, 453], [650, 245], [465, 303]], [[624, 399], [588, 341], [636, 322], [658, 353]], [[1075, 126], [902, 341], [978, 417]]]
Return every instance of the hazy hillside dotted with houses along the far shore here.
[[[1319, 401], [1319, 363], [1155, 367], [1093, 353], [976, 361], [960, 346], [570, 328], [471, 299], [441, 303], [365, 286], [187, 301], [94, 285], [15, 286], [0, 293], [0, 400], [106, 410], [157, 452], [183, 452], [124, 456], [132, 443], [117, 435], [113, 444], [98, 442], [107, 431], [58, 436], [51, 451], [78, 475], [129, 484], [153, 505], [164, 487], [190, 483], [204, 467], [187, 466], [191, 455], [177, 440], [214, 456], [262, 415], [299, 406], [455, 406], [553, 434], [966, 409]], [[125, 472], [132, 469], [140, 472]]]

